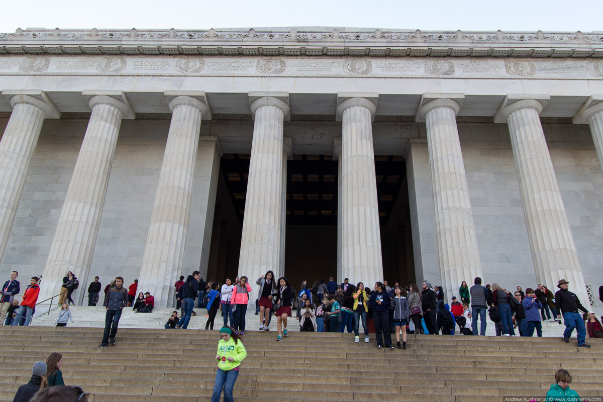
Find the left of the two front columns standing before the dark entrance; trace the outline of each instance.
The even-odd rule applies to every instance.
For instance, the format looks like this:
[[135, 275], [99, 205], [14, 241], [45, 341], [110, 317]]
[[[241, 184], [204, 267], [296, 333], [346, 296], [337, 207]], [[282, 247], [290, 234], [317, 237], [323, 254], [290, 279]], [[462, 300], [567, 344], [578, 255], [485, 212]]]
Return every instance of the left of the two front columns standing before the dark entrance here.
[[283, 121], [288, 93], [250, 92], [255, 122], [245, 197], [239, 276], [279, 272], [283, 206]]

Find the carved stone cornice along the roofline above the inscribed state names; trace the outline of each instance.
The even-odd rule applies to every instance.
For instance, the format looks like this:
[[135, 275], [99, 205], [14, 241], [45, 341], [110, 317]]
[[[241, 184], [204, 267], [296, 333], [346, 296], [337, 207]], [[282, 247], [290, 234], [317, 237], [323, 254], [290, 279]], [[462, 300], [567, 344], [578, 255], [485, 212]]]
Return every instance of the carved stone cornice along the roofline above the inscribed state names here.
[[603, 58], [603, 32], [17, 29], [0, 33], [0, 54]]

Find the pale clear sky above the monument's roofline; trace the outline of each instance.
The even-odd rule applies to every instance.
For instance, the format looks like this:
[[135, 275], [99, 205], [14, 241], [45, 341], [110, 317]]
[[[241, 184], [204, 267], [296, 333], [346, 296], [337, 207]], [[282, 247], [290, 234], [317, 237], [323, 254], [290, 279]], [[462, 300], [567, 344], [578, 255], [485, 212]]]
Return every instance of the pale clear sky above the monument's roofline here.
[[603, 32], [602, 0], [5, 0], [17, 28], [353, 27], [421, 31]]

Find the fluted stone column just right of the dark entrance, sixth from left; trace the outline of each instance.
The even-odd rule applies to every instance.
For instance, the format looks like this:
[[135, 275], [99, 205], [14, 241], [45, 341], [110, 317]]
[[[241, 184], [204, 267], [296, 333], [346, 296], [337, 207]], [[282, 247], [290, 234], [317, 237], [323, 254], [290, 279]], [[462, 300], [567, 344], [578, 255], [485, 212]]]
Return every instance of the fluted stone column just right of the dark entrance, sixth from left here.
[[[445, 97], [444, 97], [445, 96]], [[424, 94], [418, 121], [427, 126], [434, 189], [435, 233], [445, 295], [459, 298], [461, 282], [483, 277], [469, 187], [456, 128], [462, 94]]]

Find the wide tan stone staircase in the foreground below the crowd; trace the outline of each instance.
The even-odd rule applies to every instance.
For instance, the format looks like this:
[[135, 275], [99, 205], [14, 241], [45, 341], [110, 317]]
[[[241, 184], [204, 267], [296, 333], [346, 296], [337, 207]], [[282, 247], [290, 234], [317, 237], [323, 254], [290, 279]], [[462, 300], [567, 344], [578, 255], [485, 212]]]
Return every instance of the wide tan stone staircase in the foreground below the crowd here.
[[[218, 334], [204, 330], [121, 328], [118, 343], [98, 348], [101, 328], [0, 327], [0, 401], [11, 401], [31, 365], [63, 354], [68, 385], [93, 402], [209, 401]], [[577, 348], [554, 338], [409, 336], [407, 350], [377, 350], [374, 336], [248, 331], [238, 402], [504, 401], [544, 397], [559, 368], [581, 397], [603, 397], [603, 342]], [[494, 399], [493, 399], [494, 397]], [[527, 399], [526, 399], [527, 400]]]

